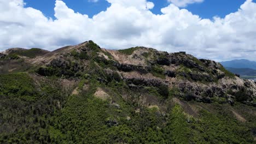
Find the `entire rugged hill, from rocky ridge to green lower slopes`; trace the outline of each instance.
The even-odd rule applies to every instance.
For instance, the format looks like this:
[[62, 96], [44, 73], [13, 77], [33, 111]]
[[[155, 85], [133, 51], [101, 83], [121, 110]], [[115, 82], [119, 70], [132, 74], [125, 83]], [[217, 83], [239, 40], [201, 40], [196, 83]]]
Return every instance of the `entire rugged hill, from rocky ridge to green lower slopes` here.
[[0, 143], [255, 142], [255, 83], [214, 61], [88, 41], [1, 62]]

